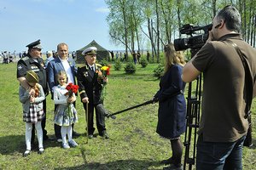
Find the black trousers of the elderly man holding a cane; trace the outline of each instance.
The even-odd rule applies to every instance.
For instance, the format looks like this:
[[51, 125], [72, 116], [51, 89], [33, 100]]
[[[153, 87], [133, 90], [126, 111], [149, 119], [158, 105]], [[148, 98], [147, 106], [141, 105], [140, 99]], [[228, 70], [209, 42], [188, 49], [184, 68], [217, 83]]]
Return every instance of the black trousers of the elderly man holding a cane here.
[[[84, 104], [84, 110], [85, 110], [85, 117], [87, 119], [87, 113], [86, 113], [86, 104]], [[102, 135], [104, 133], [104, 131], [106, 131], [106, 126], [105, 126], [105, 109], [103, 107], [102, 104], [99, 105], [93, 105], [93, 104], [88, 104], [88, 134], [93, 134], [95, 131], [95, 127], [94, 127], [94, 122], [93, 122], [93, 118], [94, 118], [94, 110], [96, 111], [96, 127], [98, 130], [98, 133], [100, 135]]]

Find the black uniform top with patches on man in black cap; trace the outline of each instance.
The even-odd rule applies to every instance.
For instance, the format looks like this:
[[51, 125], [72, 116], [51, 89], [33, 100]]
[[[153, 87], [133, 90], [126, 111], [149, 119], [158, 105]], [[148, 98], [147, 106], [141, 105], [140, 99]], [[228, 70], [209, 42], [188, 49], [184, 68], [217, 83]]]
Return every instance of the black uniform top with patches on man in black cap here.
[[17, 78], [25, 77], [26, 71], [34, 71], [39, 78], [39, 84], [44, 89], [44, 94], [48, 94], [49, 88], [47, 85], [47, 74], [44, 69], [44, 60], [42, 58], [37, 59], [36, 62], [29, 54], [26, 57], [20, 59], [17, 63]]

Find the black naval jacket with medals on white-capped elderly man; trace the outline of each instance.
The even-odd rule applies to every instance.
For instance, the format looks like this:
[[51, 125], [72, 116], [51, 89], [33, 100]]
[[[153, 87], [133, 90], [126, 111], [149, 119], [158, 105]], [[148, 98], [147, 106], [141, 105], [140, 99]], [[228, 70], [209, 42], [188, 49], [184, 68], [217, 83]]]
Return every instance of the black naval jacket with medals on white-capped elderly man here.
[[91, 71], [88, 65], [78, 69], [78, 85], [81, 99], [88, 97], [94, 105], [101, 104], [102, 84], [98, 82], [98, 71], [102, 65], [96, 65], [96, 71]]

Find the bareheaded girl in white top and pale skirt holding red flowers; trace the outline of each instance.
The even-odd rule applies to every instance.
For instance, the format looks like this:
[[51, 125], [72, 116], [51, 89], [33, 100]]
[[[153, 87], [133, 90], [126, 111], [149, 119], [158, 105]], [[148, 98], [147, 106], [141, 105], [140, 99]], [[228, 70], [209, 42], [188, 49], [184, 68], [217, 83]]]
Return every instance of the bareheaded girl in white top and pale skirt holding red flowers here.
[[[78, 122], [77, 111], [73, 106], [76, 100], [75, 94], [69, 97], [67, 87], [67, 73], [60, 71], [57, 74], [59, 85], [54, 88], [55, 124], [61, 126], [62, 146], [64, 149], [76, 147], [78, 144], [72, 139], [72, 124]], [[66, 139], [68, 137], [68, 142]]]

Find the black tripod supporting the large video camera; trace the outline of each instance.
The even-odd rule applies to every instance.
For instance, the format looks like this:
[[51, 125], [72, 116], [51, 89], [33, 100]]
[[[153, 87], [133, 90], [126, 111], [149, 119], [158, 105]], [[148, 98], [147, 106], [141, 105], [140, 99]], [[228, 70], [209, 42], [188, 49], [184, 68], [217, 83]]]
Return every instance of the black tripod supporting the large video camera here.
[[[191, 49], [191, 58], [197, 53], [199, 49]], [[201, 113], [201, 75], [197, 77], [194, 82], [189, 82], [189, 90], [187, 97], [187, 124], [184, 136], [185, 156], [183, 169], [195, 165], [195, 151], [196, 151], [196, 139], [197, 129], [200, 122]], [[193, 88], [195, 86], [195, 88]]]

